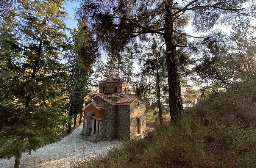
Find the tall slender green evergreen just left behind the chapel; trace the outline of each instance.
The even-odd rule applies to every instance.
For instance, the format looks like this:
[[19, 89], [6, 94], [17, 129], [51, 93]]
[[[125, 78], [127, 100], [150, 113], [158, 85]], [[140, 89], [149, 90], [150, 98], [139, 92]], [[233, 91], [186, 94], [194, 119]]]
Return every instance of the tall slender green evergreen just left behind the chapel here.
[[[75, 128], [77, 115], [82, 113], [85, 96], [90, 94], [89, 82], [90, 76], [93, 73], [90, 66], [93, 62], [87, 62], [85, 66], [83, 54], [86, 52], [86, 57], [96, 58], [97, 55], [95, 51], [97, 50], [97, 45], [92, 45], [95, 43], [88, 34], [85, 19], [78, 20], [77, 29], [73, 29], [71, 35], [72, 38], [67, 41], [66, 48], [66, 58], [69, 66], [67, 95], [70, 100], [69, 116], [74, 116]], [[91, 46], [94, 46], [94, 48], [91, 48]], [[90, 50], [90, 52], [88, 50]], [[68, 126], [67, 133], [70, 132], [71, 125]]]

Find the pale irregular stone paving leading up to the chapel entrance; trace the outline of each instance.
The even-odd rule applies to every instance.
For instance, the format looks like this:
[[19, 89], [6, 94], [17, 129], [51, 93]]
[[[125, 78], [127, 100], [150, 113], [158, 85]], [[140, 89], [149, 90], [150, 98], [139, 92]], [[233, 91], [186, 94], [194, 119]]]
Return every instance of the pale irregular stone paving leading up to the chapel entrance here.
[[[46, 145], [39, 148], [31, 155], [22, 154], [20, 168], [24, 167], [69, 167], [71, 160], [79, 160], [85, 156], [92, 156], [95, 153], [105, 153], [107, 149], [119, 144], [119, 141], [100, 141], [97, 143], [81, 139], [82, 125], [74, 130], [70, 135], [64, 137], [60, 142]], [[13, 167], [15, 158], [0, 159], [0, 167]]]

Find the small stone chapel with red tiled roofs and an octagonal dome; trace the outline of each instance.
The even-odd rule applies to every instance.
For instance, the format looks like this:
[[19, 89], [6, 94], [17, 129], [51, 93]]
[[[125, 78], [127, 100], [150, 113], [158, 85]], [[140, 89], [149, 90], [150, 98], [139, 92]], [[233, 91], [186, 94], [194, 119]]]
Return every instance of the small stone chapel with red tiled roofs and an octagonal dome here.
[[129, 94], [129, 82], [119, 76], [99, 81], [99, 93], [85, 102], [82, 135], [100, 139], [130, 139], [146, 131], [146, 105]]

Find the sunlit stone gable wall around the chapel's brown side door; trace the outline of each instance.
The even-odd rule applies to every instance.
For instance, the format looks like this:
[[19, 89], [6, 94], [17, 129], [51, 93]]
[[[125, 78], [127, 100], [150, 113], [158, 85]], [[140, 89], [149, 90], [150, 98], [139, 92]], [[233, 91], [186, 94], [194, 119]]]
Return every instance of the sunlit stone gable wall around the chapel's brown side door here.
[[[140, 106], [138, 106], [138, 102], [140, 102]], [[144, 101], [138, 97], [131, 105], [130, 105], [130, 137], [135, 138], [138, 136], [137, 134], [137, 118], [140, 118], [140, 133], [144, 133], [146, 131], [146, 104]]]

